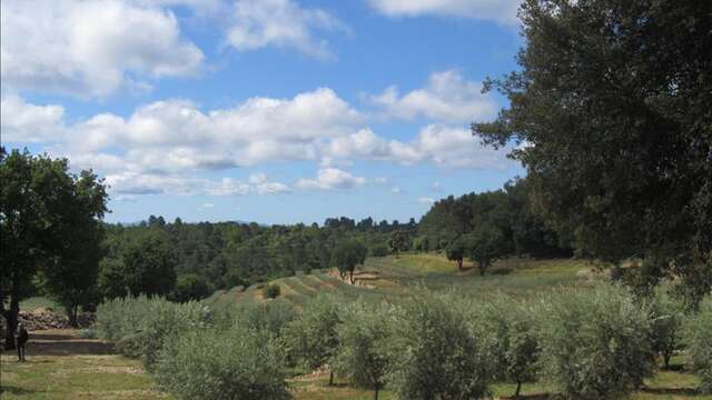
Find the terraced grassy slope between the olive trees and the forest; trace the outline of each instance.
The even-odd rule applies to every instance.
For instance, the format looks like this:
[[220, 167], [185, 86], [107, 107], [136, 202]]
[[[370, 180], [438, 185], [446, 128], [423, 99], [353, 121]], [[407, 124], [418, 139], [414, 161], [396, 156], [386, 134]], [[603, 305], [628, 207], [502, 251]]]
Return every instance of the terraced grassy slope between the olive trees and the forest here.
[[[561, 284], [585, 284], [593, 276], [591, 266], [578, 260], [507, 259], [497, 261], [483, 277], [465, 263], [458, 271], [454, 262], [442, 254], [402, 254], [369, 258], [354, 278], [356, 284], [342, 281], [332, 270], [316, 270], [309, 274], [276, 279], [280, 298], [300, 307], [322, 292], [345, 297], [398, 297], [414, 288], [453, 290], [468, 296], [483, 296], [501, 290], [514, 296], [531, 296], [544, 288]], [[260, 286], [218, 291], [208, 302], [264, 301]]]

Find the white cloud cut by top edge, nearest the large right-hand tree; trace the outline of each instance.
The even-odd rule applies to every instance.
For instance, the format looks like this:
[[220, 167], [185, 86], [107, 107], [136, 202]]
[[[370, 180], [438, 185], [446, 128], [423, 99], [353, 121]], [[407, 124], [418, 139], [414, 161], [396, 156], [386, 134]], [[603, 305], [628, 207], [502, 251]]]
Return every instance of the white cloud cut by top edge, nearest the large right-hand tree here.
[[458, 17], [515, 24], [521, 0], [367, 0], [388, 17]]

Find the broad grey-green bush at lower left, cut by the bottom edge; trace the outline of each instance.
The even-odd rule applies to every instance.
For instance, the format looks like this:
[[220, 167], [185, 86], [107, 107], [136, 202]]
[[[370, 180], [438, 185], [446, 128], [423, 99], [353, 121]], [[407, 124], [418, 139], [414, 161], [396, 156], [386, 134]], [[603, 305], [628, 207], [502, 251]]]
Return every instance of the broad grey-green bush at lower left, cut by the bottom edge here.
[[179, 399], [288, 399], [283, 353], [267, 331], [187, 331], [160, 351], [156, 380]]

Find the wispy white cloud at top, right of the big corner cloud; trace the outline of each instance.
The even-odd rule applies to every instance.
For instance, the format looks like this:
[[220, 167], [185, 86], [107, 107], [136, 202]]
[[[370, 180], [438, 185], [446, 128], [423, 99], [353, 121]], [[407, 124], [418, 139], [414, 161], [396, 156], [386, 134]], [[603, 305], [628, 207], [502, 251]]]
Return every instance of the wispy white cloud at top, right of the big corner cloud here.
[[293, 0], [237, 0], [234, 13], [228, 42], [239, 51], [276, 46], [316, 58], [332, 58], [328, 42], [314, 38], [314, 30], [348, 30], [330, 13], [303, 9]]

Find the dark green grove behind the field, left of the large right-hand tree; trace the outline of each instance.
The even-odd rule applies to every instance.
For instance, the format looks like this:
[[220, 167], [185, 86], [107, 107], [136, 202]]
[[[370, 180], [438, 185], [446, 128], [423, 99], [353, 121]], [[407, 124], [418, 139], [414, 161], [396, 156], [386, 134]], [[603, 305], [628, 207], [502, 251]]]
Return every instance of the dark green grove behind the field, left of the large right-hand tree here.
[[482, 273], [508, 256], [571, 257], [570, 239], [545, 226], [530, 192], [527, 180], [516, 179], [501, 190], [442, 199], [421, 220], [415, 248], [444, 250], [461, 269], [469, 258]]

